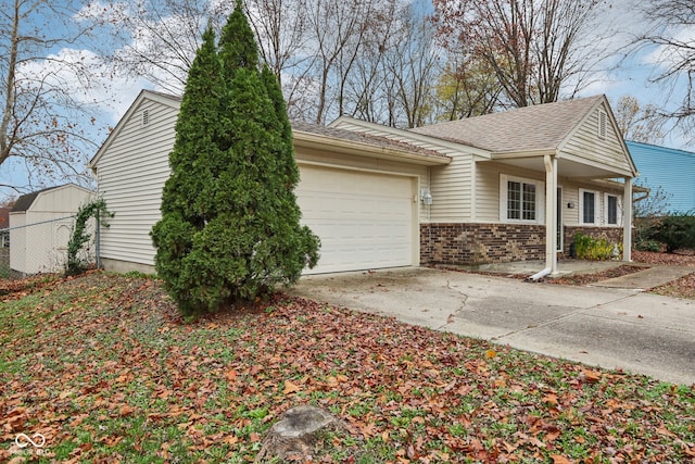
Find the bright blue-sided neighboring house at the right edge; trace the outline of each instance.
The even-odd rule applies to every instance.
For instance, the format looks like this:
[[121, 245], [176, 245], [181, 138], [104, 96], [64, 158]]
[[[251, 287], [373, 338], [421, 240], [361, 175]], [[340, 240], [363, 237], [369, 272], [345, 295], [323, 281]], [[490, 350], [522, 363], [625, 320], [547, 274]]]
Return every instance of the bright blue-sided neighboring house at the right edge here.
[[640, 185], [661, 187], [672, 213], [695, 212], [695, 153], [635, 141], [626, 145], [640, 172]]

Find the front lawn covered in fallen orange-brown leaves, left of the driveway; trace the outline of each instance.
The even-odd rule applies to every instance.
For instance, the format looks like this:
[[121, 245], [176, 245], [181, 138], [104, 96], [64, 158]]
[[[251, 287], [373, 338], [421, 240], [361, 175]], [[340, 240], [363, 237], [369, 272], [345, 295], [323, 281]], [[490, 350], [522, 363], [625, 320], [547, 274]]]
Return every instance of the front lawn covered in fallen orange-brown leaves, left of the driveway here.
[[250, 462], [307, 403], [351, 426], [316, 462], [695, 460], [693, 386], [283, 296], [187, 325], [155, 279], [3, 292], [0, 461]]

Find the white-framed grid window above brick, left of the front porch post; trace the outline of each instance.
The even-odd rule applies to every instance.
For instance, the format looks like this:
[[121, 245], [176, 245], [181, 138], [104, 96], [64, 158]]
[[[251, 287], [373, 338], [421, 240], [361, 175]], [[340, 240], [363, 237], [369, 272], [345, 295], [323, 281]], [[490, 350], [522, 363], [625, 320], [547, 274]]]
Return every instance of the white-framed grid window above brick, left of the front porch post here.
[[502, 175], [500, 190], [502, 221], [542, 221], [543, 183]]

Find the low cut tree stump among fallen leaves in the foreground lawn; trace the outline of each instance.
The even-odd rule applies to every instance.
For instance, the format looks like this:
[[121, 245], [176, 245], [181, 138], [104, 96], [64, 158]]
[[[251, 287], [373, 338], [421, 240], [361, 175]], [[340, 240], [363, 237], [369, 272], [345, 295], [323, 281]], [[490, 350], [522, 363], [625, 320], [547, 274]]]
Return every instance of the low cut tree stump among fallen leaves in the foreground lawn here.
[[270, 427], [254, 462], [290, 457], [311, 460], [318, 435], [340, 430], [348, 430], [345, 424], [320, 407], [292, 407]]

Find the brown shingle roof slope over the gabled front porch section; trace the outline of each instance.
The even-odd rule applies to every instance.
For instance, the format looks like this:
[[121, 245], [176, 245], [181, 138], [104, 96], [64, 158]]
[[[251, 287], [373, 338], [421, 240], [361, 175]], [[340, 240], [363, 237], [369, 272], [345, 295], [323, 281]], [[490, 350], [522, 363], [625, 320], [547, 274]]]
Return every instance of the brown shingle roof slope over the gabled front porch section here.
[[536, 104], [410, 129], [491, 152], [553, 150], [603, 96]]

